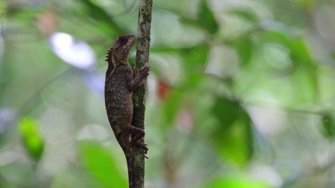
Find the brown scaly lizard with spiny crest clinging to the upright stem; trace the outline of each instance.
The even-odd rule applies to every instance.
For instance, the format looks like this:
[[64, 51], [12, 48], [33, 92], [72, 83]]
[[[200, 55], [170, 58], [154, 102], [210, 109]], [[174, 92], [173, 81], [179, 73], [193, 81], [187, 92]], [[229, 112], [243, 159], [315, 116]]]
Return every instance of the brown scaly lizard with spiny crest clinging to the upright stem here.
[[[149, 75], [150, 67], [145, 65], [134, 78], [134, 64], [130, 67], [128, 55], [135, 42], [135, 35], [121, 35], [116, 38], [112, 47], [108, 49], [106, 60], [108, 68], [105, 78], [105, 106], [109, 124], [121, 146], [128, 167], [129, 188], [133, 188], [133, 159], [131, 145], [143, 149], [144, 130], [131, 125], [133, 118], [133, 91]], [[145, 156], [146, 157], [146, 156]], [[147, 158], [147, 157], [146, 157]]]

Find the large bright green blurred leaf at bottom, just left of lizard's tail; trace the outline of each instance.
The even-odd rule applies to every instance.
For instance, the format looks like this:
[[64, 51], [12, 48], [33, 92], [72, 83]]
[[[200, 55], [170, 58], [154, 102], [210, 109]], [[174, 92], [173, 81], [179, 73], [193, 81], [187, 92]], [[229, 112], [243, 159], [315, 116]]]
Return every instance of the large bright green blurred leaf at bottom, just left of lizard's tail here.
[[[128, 186], [107, 148], [97, 143], [85, 142], [80, 145], [79, 149], [81, 163], [102, 186], [106, 188], [125, 188]], [[124, 171], [126, 172], [126, 170]]]

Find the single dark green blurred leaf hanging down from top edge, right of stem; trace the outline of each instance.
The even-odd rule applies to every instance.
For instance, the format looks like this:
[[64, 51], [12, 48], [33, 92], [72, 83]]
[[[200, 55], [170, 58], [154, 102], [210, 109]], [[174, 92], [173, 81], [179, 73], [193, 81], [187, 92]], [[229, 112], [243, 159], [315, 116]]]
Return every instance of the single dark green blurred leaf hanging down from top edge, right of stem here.
[[218, 24], [206, 0], [200, 0], [199, 2], [197, 20], [203, 24], [203, 28], [209, 33], [215, 34], [217, 32]]

